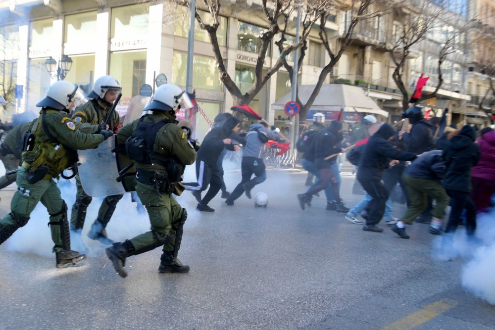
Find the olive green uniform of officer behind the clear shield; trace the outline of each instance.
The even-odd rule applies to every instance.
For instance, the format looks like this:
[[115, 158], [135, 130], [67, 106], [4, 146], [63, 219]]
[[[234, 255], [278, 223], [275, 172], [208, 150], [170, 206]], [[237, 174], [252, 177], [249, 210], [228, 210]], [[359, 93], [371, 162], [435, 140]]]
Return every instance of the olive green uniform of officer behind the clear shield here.
[[[111, 106], [103, 104], [101, 100], [93, 99], [81, 106], [78, 106], [72, 114], [72, 120], [76, 124], [76, 128], [81, 132], [97, 133], [98, 125], [105, 122], [110, 109]], [[108, 127], [111, 131], [115, 131], [116, 129], [121, 127], [120, 118], [117, 111], [113, 111], [112, 115], [110, 116]], [[102, 164], [102, 166], [104, 166], [104, 164]], [[86, 219], [86, 210], [93, 198], [84, 191], [79, 175], [76, 175], [76, 187], [76, 202], [72, 206], [70, 225], [73, 229], [80, 230], [84, 226], [84, 221]], [[95, 226], [95, 230], [98, 232], [103, 231], [104, 236], [106, 236], [104, 229], [110, 221], [117, 203], [122, 198], [122, 196], [122, 194], [106, 196], [103, 199], [101, 206], [99, 207], [98, 218], [95, 221], [95, 223], [97, 224]]]

